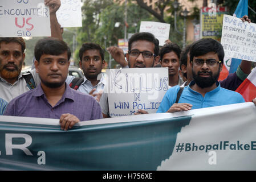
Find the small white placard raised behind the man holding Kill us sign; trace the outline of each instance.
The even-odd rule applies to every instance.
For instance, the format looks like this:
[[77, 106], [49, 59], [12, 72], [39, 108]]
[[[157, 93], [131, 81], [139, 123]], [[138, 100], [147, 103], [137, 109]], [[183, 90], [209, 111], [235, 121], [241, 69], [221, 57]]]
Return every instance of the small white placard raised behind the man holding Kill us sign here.
[[165, 40], [169, 39], [170, 24], [160, 22], [141, 22], [140, 32], [150, 32], [159, 39], [159, 46], [164, 46]]

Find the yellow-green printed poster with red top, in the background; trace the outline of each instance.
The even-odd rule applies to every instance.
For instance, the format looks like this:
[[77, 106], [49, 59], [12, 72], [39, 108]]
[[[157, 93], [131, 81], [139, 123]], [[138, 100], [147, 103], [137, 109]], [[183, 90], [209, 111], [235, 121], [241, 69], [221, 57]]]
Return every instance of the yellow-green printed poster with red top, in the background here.
[[227, 7], [202, 7], [201, 9], [201, 38], [212, 38], [220, 41], [222, 19], [228, 13]]

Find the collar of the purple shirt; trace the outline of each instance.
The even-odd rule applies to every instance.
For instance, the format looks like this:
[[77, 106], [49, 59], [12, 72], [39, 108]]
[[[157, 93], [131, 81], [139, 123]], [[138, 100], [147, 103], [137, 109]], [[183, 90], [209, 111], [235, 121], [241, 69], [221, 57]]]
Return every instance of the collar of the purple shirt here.
[[[74, 96], [74, 92], [72, 92], [70, 86], [67, 86], [66, 82], [65, 82], [65, 86], [66, 86], [66, 89], [65, 89], [65, 92], [62, 96], [62, 98], [60, 99], [59, 103], [60, 102], [64, 102], [64, 100], [67, 98], [67, 99], [70, 99], [72, 101], [75, 100], [75, 96]], [[34, 92], [32, 92], [32, 96], [35, 96], [35, 97], [41, 97], [41, 96], [44, 96], [45, 97], [45, 94], [43, 92], [43, 89], [41, 87], [41, 84], [39, 84], [38, 86], [36, 86], [36, 88], [34, 89]]]

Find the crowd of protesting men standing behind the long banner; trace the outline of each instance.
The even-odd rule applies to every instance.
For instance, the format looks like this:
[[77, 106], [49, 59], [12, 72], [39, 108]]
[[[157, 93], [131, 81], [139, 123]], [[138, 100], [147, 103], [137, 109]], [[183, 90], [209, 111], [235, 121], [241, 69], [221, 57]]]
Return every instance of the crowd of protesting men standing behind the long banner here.
[[[62, 130], [79, 121], [108, 118], [108, 94], [101, 70], [105, 66], [104, 49], [84, 43], [79, 65], [84, 77], [68, 76], [71, 51], [62, 40], [56, 19], [60, 0], [47, 0], [50, 7], [51, 38], [34, 48], [34, 69], [22, 74], [26, 44], [23, 38], [0, 38], [0, 115], [59, 119]], [[250, 22], [248, 16], [243, 21]], [[214, 39], [200, 39], [184, 49], [148, 32], [134, 34], [128, 53], [119, 47], [107, 49], [123, 68], [168, 67], [169, 89], [157, 113], [173, 113], [204, 107], [245, 102], [234, 92], [251, 72], [251, 62], [242, 60], [237, 71], [218, 81], [224, 66], [224, 49]], [[256, 105], [256, 98], [253, 100]], [[135, 114], [147, 114], [137, 110]]]

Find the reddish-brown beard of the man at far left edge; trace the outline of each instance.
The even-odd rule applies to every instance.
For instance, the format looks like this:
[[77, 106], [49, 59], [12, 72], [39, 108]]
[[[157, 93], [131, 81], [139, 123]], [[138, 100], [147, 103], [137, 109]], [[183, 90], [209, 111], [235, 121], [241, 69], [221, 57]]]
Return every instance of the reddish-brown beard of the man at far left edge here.
[[0, 73], [1, 73], [1, 77], [5, 78], [5, 79], [14, 79], [17, 78], [19, 76], [19, 73], [21, 73], [21, 65], [19, 65], [19, 67], [15, 64], [11, 64], [12, 66], [15, 67], [15, 69], [8, 69], [8, 65], [10, 64], [5, 64], [5, 65], [0, 65]]

